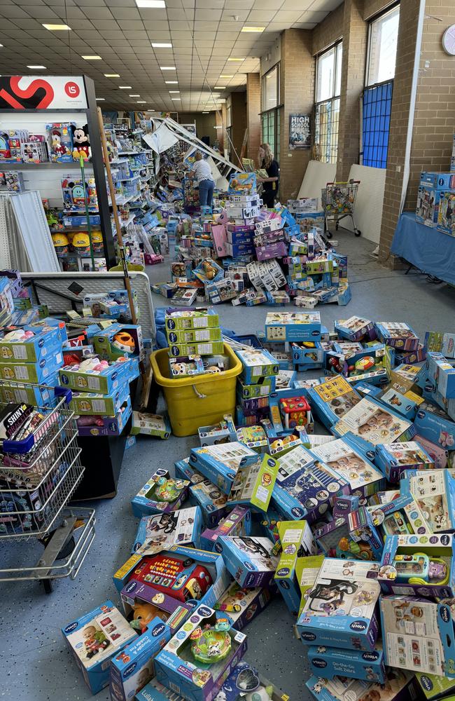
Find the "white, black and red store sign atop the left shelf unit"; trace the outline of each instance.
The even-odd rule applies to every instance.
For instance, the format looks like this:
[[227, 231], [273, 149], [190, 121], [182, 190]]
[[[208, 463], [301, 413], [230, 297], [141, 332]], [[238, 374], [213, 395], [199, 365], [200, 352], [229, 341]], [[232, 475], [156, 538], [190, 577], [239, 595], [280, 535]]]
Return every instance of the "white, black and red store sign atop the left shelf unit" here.
[[0, 77], [0, 110], [86, 108], [82, 76]]

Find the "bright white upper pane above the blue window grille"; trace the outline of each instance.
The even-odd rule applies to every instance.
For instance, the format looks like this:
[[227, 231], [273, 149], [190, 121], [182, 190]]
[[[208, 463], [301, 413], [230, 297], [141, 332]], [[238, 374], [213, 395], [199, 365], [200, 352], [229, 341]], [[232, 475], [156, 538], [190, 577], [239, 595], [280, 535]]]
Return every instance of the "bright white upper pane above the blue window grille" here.
[[399, 21], [400, 6], [396, 6], [370, 22], [365, 81], [367, 87], [395, 77]]

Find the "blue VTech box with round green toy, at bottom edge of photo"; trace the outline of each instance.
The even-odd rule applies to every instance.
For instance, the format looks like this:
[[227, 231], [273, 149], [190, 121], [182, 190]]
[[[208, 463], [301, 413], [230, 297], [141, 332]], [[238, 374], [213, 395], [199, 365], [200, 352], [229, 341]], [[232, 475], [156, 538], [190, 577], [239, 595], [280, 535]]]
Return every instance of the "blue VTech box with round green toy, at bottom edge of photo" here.
[[211, 701], [246, 651], [246, 636], [199, 606], [155, 658], [156, 677], [188, 701]]

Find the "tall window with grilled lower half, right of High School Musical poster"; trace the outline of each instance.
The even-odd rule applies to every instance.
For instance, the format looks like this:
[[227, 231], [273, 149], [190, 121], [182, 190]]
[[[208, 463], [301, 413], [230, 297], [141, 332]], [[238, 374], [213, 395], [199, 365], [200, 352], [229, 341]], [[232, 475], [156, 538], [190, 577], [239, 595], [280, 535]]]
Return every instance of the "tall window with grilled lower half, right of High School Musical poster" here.
[[314, 146], [316, 158], [323, 163], [337, 162], [342, 55], [339, 41], [316, 60]]

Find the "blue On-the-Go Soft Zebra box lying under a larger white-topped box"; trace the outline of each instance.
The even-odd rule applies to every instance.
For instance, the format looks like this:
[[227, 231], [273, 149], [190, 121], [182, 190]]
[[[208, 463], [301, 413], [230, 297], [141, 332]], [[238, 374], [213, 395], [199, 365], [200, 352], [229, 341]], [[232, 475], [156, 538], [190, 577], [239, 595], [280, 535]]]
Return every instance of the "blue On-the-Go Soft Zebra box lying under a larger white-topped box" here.
[[323, 674], [325, 679], [347, 676], [351, 679], [377, 681], [380, 684], [386, 680], [381, 646], [376, 646], [374, 650], [362, 651], [310, 645], [307, 656], [310, 671], [318, 676]]

